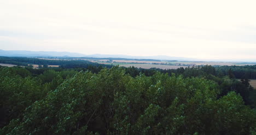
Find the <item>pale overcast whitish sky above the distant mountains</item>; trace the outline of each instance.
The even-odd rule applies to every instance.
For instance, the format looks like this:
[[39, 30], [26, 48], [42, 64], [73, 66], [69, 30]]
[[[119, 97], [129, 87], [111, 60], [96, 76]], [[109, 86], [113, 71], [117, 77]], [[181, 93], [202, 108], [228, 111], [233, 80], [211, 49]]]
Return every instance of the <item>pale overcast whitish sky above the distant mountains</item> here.
[[0, 0], [0, 49], [256, 61], [255, 5]]

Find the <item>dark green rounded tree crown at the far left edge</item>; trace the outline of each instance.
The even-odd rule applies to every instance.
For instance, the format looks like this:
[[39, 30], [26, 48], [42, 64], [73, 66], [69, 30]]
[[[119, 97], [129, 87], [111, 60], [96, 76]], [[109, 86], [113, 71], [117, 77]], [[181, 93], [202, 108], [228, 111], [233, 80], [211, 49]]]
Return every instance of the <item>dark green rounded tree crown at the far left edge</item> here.
[[28, 74], [24, 74], [27, 72], [23, 69], [15, 69], [1, 68], [0, 71], [0, 127], [17, 118], [28, 105], [46, 94], [41, 91], [37, 79], [26, 77]]

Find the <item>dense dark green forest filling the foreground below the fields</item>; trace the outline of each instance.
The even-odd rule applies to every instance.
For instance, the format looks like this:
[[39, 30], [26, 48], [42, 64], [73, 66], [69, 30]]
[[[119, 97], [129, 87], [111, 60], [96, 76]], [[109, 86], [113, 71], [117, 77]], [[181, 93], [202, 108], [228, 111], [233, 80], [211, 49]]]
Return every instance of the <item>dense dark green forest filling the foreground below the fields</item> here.
[[0, 134], [256, 134], [255, 67], [0, 67]]

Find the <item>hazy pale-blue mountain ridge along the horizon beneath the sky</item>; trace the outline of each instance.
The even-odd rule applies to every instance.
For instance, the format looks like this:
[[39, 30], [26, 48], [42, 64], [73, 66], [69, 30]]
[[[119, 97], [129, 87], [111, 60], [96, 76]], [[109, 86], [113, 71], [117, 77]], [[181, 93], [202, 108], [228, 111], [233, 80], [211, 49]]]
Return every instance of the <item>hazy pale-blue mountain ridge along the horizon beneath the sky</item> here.
[[0, 50], [0, 56], [8, 57], [95, 57], [95, 58], [134, 58], [134, 59], [154, 59], [154, 60], [184, 60], [194, 61], [195, 58], [170, 57], [170, 56], [129, 56], [129, 55], [106, 55], [93, 54], [85, 55], [77, 52], [58, 52], [58, 51], [20, 51], [20, 50]]

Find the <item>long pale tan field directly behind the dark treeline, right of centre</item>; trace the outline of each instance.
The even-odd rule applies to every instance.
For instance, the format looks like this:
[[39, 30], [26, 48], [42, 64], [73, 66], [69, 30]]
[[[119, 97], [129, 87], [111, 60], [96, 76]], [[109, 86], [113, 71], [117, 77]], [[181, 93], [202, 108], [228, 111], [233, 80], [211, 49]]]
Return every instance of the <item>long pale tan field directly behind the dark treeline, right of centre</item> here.
[[187, 66], [171, 66], [171, 65], [161, 65], [161, 64], [120, 64], [121, 67], [137, 67], [137, 68], [160, 68], [160, 69], [177, 69], [180, 67], [187, 67]]

